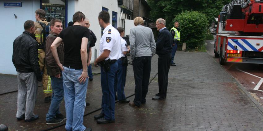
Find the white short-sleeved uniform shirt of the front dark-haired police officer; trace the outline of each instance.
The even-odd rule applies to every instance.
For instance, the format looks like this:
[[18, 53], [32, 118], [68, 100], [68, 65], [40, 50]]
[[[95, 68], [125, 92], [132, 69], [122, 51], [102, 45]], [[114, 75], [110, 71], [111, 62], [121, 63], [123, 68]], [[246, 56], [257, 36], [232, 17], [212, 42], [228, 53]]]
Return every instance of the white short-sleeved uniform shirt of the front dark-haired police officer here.
[[99, 56], [103, 50], [110, 50], [110, 55], [105, 60], [121, 58], [121, 36], [119, 31], [108, 25], [102, 32]]

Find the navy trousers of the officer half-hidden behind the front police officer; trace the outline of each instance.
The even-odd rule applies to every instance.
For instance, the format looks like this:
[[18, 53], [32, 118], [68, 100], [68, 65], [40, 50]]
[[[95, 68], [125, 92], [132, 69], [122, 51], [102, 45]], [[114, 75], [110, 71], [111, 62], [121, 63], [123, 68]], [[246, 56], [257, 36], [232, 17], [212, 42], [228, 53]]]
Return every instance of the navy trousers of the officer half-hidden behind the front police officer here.
[[126, 69], [127, 66], [122, 65], [122, 59], [117, 60], [118, 70], [114, 80], [114, 94], [118, 91], [118, 99], [125, 100], [124, 86], [126, 82]]

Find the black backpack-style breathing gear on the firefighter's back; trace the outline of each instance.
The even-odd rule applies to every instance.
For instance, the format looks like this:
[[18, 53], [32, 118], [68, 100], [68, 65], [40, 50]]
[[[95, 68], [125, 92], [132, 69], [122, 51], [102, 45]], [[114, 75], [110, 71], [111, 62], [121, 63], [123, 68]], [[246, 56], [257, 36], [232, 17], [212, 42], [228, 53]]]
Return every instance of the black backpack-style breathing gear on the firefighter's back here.
[[[50, 23], [48, 23], [47, 25], [45, 23], [42, 23], [40, 21], [37, 21], [37, 23], [39, 23], [41, 25], [41, 27], [43, 28], [41, 33], [40, 33], [40, 42], [41, 45], [39, 45], [39, 49], [45, 49], [45, 41], [46, 41], [46, 37], [49, 35], [49, 31], [50, 31]], [[43, 37], [41, 37], [43, 35]]]

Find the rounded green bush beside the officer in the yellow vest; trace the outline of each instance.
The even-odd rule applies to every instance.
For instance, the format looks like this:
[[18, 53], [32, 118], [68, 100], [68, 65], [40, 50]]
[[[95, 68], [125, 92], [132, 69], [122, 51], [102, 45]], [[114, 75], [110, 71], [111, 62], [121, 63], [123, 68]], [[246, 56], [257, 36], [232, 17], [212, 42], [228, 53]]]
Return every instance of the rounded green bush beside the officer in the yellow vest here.
[[198, 11], [183, 11], [174, 18], [179, 22], [180, 42], [186, 43], [187, 49], [196, 49], [205, 44], [209, 27], [206, 15]]

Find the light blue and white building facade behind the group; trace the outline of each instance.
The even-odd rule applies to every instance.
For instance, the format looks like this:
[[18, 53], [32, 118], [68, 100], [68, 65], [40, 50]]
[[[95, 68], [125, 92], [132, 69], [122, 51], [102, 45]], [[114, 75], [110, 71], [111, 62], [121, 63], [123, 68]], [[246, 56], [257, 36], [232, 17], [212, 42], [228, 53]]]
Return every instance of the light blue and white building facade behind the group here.
[[35, 19], [35, 10], [41, 8], [46, 11], [46, 18], [59, 18], [63, 28], [72, 21], [75, 12], [81, 11], [90, 20], [90, 28], [97, 36], [95, 47], [92, 48], [91, 62], [98, 56], [101, 27], [98, 24], [98, 14], [106, 10], [110, 14], [110, 23], [119, 27], [121, 8], [118, 0], [0, 0], [0, 16], [2, 31], [0, 32], [0, 73], [17, 74], [12, 63], [13, 41], [24, 31], [24, 22]]

